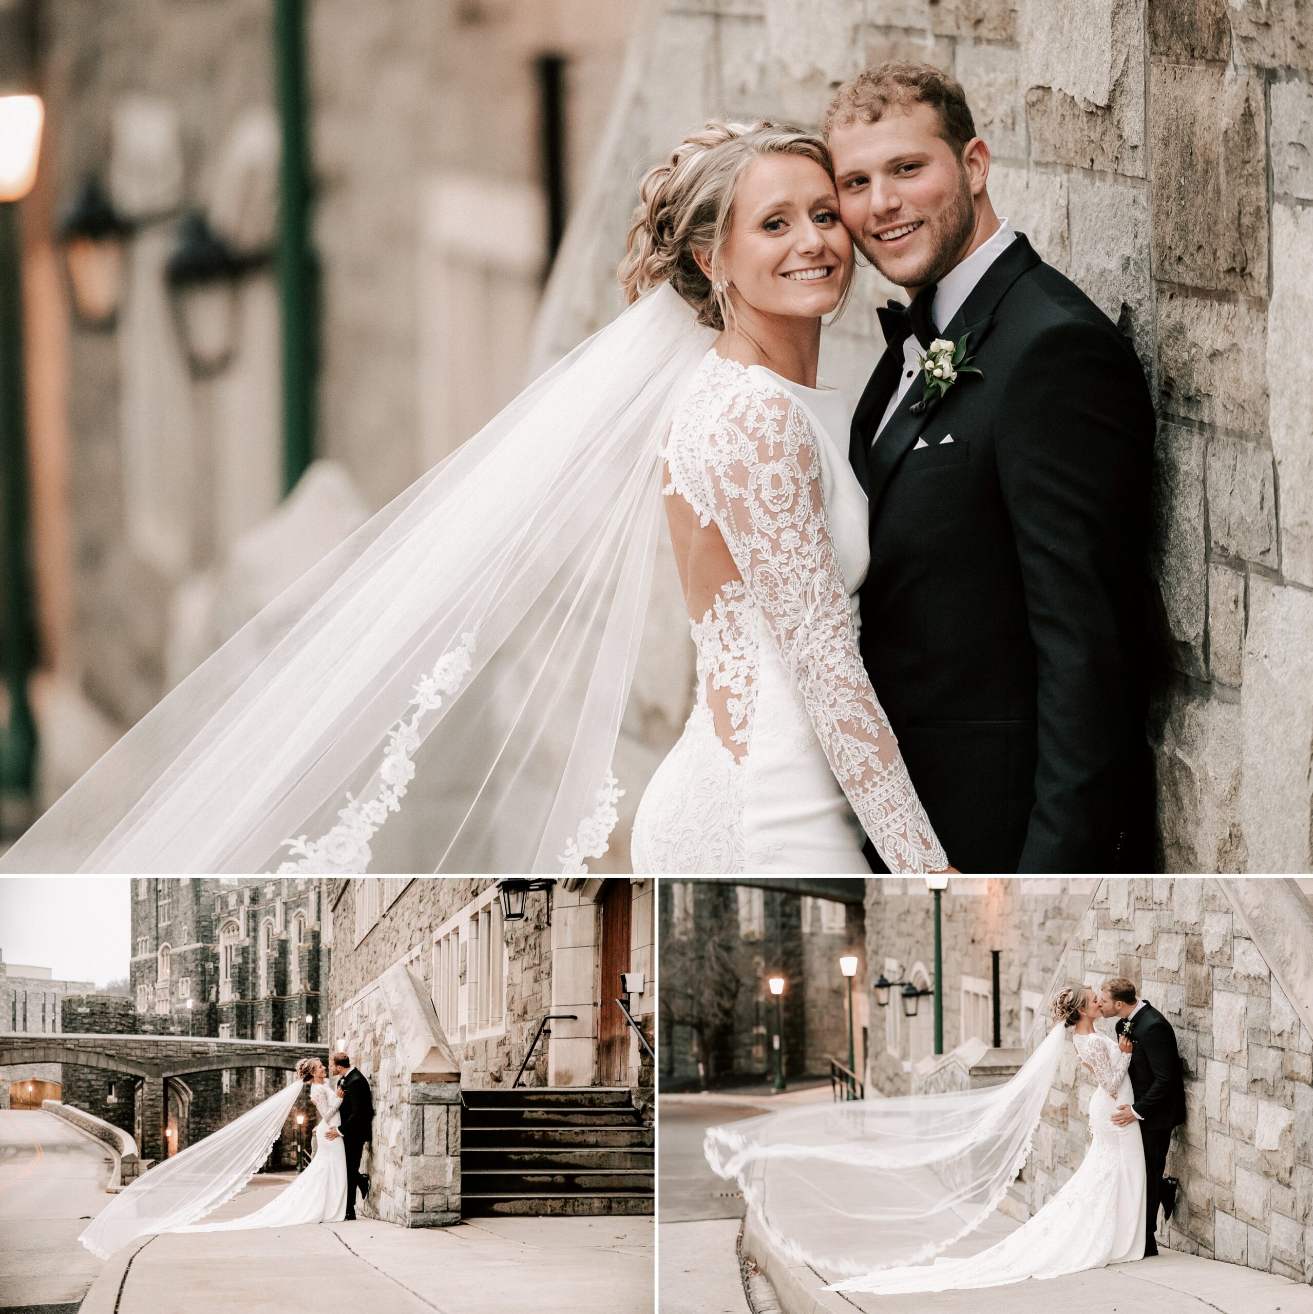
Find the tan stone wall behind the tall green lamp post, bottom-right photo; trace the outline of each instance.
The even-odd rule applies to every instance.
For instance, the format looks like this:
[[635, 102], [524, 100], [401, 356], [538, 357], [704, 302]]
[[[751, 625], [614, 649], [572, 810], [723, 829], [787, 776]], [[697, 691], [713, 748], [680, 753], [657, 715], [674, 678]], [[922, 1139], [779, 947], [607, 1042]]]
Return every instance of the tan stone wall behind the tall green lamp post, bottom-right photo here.
[[[1049, 989], [1067, 942], [1094, 896], [1097, 882], [1038, 876], [979, 879], [953, 876], [942, 894], [944, 1049], [962, 1041], [992, 1041], [991, 951], [999, 959], [999, 1021], [1004, 1047], [1025, 1041], [1023, 1016]], [[870, 997], [870, 1060], [866, 1080], [886, 1095], [911, 1089], [912, 1068], [932, 1053], [933, 1001], [917, 1001], [915, 1021], [903, 1016], [902, 999], [890, 991], [879, 1005], [874, 983], [912, 980], [933, 986], [934, 900], [921, 878], [871, 878], [866, 882], [866, 979]], [[990, 1004], [963, 1026], [963, 983], [990, 987]], [[891, 1016], [892, 1014], [892, 1018]], [[1029, 1014], [1025, 1014], [1029, 1017]]]

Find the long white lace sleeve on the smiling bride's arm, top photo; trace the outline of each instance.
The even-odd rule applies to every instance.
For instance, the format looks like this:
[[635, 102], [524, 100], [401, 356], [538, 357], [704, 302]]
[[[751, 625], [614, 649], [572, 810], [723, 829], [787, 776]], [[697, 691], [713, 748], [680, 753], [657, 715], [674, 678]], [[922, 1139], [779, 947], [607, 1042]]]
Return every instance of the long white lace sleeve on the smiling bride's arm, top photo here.
[[793, 398], [744, 390], [706, 435], [706, 489], [807, 714], [890, 871], [942, 871], [944, 848], [871, 689], [831, 541], [820, 452]]

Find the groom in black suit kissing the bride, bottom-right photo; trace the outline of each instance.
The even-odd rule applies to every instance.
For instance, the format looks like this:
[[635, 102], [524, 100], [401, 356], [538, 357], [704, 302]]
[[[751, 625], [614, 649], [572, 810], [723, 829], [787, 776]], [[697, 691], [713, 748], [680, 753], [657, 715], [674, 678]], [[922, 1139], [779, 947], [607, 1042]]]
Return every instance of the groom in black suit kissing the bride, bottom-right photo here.
[[1118, 1104], [1112, 1121], [1118, 1127], [1140, 1122], [1145, 1146], [1145, 1255], [1157, 1255], [1154, 1229], [1158, 1226], [1158, 1204], [1163, 1218], [1171, 1218], [1176, 1206], [1176, 1183], [1163, 1179], [1171, 1133], [1186, 1121], [1186, 1083], [1182, 1079], [1176, 1033], [1147, 1000], [1136, 999], [1136, 987], [1125, 976], [1112, 976], [1099, 991], [1099, 1012], [1117, 1018], [1117, 1035], [1129, 1035], [1130, 1089], [1134, 1104]]

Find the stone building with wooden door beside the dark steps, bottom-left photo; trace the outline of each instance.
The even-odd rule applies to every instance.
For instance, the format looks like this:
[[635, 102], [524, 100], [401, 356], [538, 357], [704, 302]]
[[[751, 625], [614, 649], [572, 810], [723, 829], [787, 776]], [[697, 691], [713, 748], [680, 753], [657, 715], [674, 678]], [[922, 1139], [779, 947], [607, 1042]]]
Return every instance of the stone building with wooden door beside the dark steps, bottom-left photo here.
[[495, 878], [325, 878], [330, 1043], [373, 1089], [367, 1213], [459, 1219], [461, 1089], [630, 1087], [651, 1106], [652, 1068], [614, 1000], [620, 972], [643, 972], [628, 1007], [653, 1043], [655, 884], [559, 879], [507, 922]]

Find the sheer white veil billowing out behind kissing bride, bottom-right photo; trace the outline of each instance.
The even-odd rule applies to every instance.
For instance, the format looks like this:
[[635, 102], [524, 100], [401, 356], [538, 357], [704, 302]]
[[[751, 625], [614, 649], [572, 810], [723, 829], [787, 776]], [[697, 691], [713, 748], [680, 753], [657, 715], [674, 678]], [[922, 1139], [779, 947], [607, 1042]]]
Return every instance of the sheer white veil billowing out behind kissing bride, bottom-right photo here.
[[737, 1180], [777, 1248], [831, 1281], [928, 1261], [979, 1227], [1021, 1171], [1065, 1043], [1054, 1026], [1003, 1085], [711, 1127], [707, 1162]]

